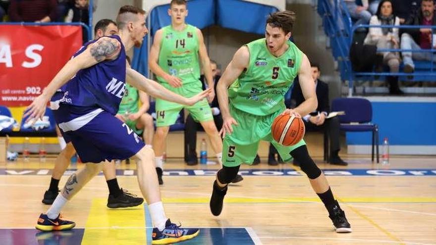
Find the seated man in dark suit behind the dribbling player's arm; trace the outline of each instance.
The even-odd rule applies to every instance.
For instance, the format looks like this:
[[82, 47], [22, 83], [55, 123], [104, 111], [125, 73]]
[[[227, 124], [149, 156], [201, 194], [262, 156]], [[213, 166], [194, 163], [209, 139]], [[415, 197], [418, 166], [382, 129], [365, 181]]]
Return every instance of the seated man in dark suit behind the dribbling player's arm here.
[[[311, 112], [309, 115], [303, 116], [304, 125], [306, 131], [320, 131], [327, 127], [328, 135], [330, 138], [330, 164], [346, 166], [348, 163], [343, 161], [339, 157], [339, 118], [332, 117], [326, 119], [328, 113], [330, 112], [330, 104], [328, 100], [328, 85], [327, 83], [320, 80], [320, 66], [318, 64], [311, 64], [312, 78], [315, 81], [318, 107], [315, 111]], [[294, 108], [305, 100], [303, 93], [301, 91], [300, 83], [295, 82], [294, 88], [292, 90], [291, 96], [291, 107]], [[294, 161], [294, 164], [298, 165]]]

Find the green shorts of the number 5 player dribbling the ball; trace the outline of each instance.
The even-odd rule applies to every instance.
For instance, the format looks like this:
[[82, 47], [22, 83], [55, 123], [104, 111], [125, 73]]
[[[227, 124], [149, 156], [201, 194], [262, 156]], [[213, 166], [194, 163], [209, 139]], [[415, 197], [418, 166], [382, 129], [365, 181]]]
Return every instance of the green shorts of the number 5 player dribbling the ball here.
[[297, 147], [306, 145], [306, 142], [301, 140], [296, 145], [285, 147], [274, 141], [271, 135], [272, 122], [284, 109], [283, 107], [271, 115], [257, 116], [238, 110], [230, 104], [230, 114], [239, 125], [233, 125], [233, 133], [224, 137], [222, 164], [226, 167], [235, 167], [242, 163], [251, 165], [261, 140], [271, 142], [284, 162], [291, 161], [292, 156], [289, 153]]

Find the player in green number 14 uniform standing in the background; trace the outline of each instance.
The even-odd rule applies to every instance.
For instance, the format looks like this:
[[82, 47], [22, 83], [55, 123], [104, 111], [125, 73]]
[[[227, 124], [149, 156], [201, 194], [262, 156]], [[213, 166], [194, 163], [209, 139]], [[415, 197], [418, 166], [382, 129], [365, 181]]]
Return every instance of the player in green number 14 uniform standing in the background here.
[[[192, 25], [185, 23], [188, 15], [186, 0], [171, 0], [168, 15], [171, 25], [156, 32], [150, 51], [149, 66], [157, 75], [158, 81], [166, 89], [184, 97], [192, 97], [202, 91], [200, 82], [200, 63], [203, 67], [208, 87], [212, 93], [208, 96], [211, 102], [215, 97], [214, 80], [210, 69], [210, 60], [204, 44], [203, 34]], [[214, 123], [211, 107], [205, 99], [193, 106], [156, 99], [156, 133], [153, 148], [156, 153], [156, 171], [162, 185], [163, 147], [168, 135], [169, 126], [174, 124], [181, 109], [186, 108], [192, 117], [201, 123], [208, 135], [213, 150], [221, 163], [222, 142]]]

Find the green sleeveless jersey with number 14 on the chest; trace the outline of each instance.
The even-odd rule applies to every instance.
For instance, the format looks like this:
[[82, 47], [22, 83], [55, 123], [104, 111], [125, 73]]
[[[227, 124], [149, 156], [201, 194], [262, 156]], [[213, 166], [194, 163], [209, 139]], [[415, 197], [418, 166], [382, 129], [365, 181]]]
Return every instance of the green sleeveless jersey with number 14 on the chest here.
[[[186, 24], [183, 31], [175, 31], [171, 25], [162, 28], [159, 66], [168, 74], [178, 77], [182, 83], [199, 82], [200, 63], [198, 57], [197, 28]], [[167, 83], [158, 76], [161, 83]]]

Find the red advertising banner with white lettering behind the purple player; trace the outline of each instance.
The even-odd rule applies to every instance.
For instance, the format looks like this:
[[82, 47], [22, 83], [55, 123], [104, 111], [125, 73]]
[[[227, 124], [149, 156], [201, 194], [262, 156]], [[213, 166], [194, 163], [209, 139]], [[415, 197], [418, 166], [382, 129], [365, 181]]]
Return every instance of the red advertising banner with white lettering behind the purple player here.
[[81, 46], [80, 26], [0, 25], [0, 105], [29, 105]]

